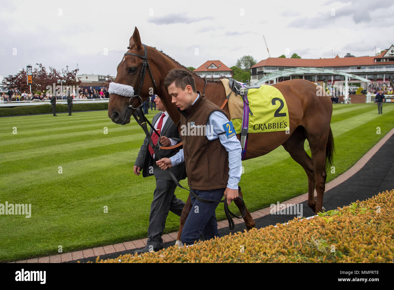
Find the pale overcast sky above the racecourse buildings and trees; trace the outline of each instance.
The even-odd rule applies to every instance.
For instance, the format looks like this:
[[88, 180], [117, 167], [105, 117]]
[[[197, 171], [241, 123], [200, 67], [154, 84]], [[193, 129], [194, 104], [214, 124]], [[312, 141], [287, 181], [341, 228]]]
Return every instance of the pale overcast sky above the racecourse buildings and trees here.
[[142, 43], [186, 67], [217, 59], [231, 67], [243, 55], [264, 60], [263, 34], [271, 57], [373, 56], [375, 46], [383, 50], [394, 42], [392, 0], [0, 3], [3, 77], [36, 63], [116, 75], [135, 26]]

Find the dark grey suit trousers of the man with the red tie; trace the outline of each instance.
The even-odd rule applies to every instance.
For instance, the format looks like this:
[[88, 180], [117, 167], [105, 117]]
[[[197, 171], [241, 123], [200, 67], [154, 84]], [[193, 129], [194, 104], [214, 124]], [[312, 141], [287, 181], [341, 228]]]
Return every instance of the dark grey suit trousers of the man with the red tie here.
[[[169, 211], [180, 216], [185, 202], [175, 196], [177, 185], [173, 180], [156, 178], [156, 189], [153, 192], [151, 213], [149, 215], [148, 241], [147, 246], [153, 246], [154, 250], [163, 247], [163, 231], [165, 220]], [[152, 214], [154, 213], [154, 214]]]

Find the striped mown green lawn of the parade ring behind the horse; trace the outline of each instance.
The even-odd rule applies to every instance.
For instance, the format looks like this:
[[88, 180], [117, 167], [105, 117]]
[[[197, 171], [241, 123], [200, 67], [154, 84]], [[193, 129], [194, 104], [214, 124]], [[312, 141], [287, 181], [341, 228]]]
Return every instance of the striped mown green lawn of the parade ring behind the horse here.
[[[378, 115], [375, 104], [334, 105], [335, 174], [328, 171], [327, 181], [345, 172], [394, 127], [394, 106], [383, 110]], [[150, 111], [148, 119], [153, 115]], [[154, 177], [133, 174], [145, 135], [134, 119], [121, 126], [100, 111], [0, 122], [0, 203], [32, 204], [30, 218], [0, 215], [0, 261], [58, 254], [59, 245], [66, 253], [147, 237], [155, 182]], [[307, 192], [304, 170], [281, 146], [242, 165], [240, 186], [250, 211]], [[186, 187], [187, 181], [181, 184]], [[188, 196], [180, 189], [176, 195], [185, 201]], [[216, 214], [218, 220], [225, 219], [222, 206]], [[179, 217], [170, 212], [165, 232], [178, 226]]]

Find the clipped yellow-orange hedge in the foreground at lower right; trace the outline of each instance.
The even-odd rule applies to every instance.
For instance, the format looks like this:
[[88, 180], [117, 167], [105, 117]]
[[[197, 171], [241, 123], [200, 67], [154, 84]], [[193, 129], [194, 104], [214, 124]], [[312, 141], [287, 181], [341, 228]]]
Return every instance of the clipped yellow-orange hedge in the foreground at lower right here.
[[393, 196], [394, 190], [385, 191], [309, 220], [96, 262], [393, 262]]

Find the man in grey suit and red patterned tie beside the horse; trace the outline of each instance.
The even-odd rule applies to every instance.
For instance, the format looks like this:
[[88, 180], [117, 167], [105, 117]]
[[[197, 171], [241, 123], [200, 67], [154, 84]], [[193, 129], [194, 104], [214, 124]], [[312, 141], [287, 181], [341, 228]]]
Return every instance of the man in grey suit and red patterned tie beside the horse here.
[[[169, 118], [164, 105], [160, 98], [154, 99], [158, 110], [162, 111], [156, 114], [152, 119], [152, 125], [160, 134], [160, 140], [151, 128], [150, 135], [152, 141], [160, 141], [162, 146], [173, 146], [181, 142], [177, 126]], [[159, 132], [160, 129], [160, 132]], [[153, 136], [152, 136], [153, 133]], [[153, 142], [154, 144], [157, 144]], [[176, 150], [160, 150], [160, 157], [171, 157], [177, 153]], [[165, 228], [165, 220], [169, 210], [180, 216], [185, 202], [178, 199], [174, 192], [177, 185], [167, 172], [162, 170], [156, 164], [158, 157], [155, 156], [153, 149], [149, 145], [147, 137], [139, 150], [138, 157], [134, 163], [134, 174], [139, 175], [142, 168], [142, 176], [147, 177], [154, 175], [156, 178], [156, 189], [153, 192], [153, 201], [151, 204], [151, 214], [149, 215], [148, 241], [147, 246], [135, 253], [146, 253], [150, 251], [159, 251], [163, 248], [162, 234]], [[186, 178], [185, 163], [181, 163], [172, 170], [177, 180]]]

